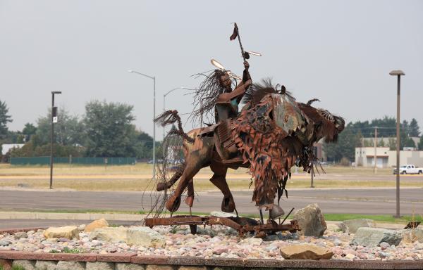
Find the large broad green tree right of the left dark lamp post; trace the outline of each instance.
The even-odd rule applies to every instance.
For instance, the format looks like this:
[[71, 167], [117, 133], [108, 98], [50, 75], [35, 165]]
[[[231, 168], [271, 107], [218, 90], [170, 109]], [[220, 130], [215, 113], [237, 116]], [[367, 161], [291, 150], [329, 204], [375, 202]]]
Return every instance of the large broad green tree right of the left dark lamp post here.
[[86, 155], [90, 157], [135, 156], [133, 106], [91, 101], [85, 105]]

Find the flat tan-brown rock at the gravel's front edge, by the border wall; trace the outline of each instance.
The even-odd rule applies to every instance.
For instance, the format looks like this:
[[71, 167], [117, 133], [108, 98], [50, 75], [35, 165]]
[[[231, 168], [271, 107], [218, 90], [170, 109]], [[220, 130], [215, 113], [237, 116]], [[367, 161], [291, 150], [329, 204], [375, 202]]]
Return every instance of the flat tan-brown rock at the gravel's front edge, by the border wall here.
[[333, 252], [312, 244], [287, 245], [279, 249], [285, 259], [331, 259]]

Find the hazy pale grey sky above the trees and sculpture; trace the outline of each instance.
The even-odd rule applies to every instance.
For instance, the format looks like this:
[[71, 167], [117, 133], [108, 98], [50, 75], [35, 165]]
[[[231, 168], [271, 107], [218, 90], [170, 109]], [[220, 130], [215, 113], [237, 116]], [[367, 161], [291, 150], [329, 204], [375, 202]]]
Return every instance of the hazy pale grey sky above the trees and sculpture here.
[[[0, 101], [23, 129], [56, 104], [82, 116], [99, 100], [134, 106], [134, 124], [152, 134], [153, 81], [157, 115], [163, 95], [196, 88], [192, 75], [211, 58], [242, 75], [233, 22], [247, 51], [253, 81], [271, 77], [302, 102], [347, 122], [396, 116], [423, 127], [423, 1], [88, 1], [0, 0]], [[192, 110], [176, 90], [166, 109]], [[186, 115], [183, 115], [186, 122]], [[185, 124], [190, 129], [192, 124]], [[162, 129], [157, 127], [157, 140]]]

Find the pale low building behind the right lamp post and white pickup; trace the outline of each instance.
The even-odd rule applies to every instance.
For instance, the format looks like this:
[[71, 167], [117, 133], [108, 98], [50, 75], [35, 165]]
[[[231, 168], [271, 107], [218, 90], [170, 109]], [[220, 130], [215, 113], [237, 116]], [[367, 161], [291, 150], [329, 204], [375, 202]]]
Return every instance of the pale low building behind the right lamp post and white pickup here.
[[[400, 164], [413, 164], [423, 167], [423, 151], [400, 151]], [[355, 166], [374, 166], [374, 147], [355, 148]], [[396, 150], [388, 147], [376, 147], [376, 166], [378, 168], [396, 167]]]

